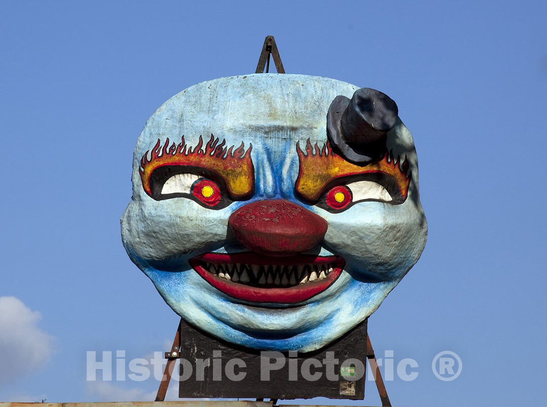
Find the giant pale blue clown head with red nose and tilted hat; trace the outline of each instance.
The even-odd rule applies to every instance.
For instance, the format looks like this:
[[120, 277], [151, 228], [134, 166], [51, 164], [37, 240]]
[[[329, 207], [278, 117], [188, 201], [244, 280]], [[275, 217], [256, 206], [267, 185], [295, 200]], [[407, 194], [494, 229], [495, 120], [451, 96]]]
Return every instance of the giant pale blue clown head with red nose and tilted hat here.
[[148, 120], [121, 231], [185, 321], [312, 351], [370, 316], [426, 243], [412, 136], [386, 95], [289, 74], [191, 86]]

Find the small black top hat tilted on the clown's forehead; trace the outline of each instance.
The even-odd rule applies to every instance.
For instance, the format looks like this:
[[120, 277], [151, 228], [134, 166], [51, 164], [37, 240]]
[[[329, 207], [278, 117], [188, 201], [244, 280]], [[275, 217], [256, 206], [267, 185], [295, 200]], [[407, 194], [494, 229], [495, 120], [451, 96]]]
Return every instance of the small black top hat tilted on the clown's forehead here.
[[358, 89], [351, 100], [336, 96], [327, 113], [327, 137], [347, 161], [369, 164], [386, 149], [398, 113], [397, 103], [374, 89]]

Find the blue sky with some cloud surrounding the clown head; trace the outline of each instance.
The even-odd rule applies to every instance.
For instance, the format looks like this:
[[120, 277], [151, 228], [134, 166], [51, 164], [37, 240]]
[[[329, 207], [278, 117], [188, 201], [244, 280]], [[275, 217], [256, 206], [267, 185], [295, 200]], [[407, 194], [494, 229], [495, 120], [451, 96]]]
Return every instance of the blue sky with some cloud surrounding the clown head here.
[[[85, 371], [87, 351], [167, 350], [178, 323], [121, 245], [133, 147], [274, 34], [288, 73], [382, 90], [415, 138], [428, 243], [369, 320], [379, 356], [419, 365], [387, 381], [393, 404], [543, 401], [545, 2], [196, 3], [2, 2], [0, 400], [152, 398]], [[431, 368], [445, 350], [453, 381]]]

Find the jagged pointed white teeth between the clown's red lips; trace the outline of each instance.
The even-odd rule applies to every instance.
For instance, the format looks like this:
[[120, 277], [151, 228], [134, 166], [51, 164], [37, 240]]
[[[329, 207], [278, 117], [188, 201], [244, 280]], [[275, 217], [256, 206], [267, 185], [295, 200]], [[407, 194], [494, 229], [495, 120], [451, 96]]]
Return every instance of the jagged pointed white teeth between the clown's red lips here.
[[294, 287], [299, 284], [323, 280], [334, 271], [331, 264], [298, 264], [291, 266], [203, 263], [203, 268], [224, 280], [257, 287]]

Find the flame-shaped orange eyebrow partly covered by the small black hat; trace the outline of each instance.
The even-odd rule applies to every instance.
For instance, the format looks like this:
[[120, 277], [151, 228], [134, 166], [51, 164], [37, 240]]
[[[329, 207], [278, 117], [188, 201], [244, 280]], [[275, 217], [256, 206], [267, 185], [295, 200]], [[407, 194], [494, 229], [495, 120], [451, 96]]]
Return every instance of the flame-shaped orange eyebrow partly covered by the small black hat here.
[[334, 153], [329, 143], [323, 144], [321, 149], [316, 143], [314, 148], [310, 139], [306, 142], [306, 152], [303, 152], [299, 142], [296, 142], [296, 152], [299, 159], [299, 171], [294, 188], [306, 201], [316, 202], [337, 178], [362, 174], [382, 174], [393, 177], [401, 197], [403, 200], [406, 199], [411, 178], [411, 174], [407, 174], [409, 164], [406, 157], [400, 164], [400, 157], [394, 160], [393, 154], [386, 150], [381, 160], [361, 167]]

